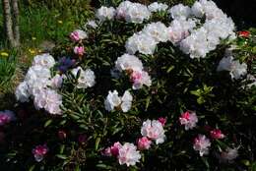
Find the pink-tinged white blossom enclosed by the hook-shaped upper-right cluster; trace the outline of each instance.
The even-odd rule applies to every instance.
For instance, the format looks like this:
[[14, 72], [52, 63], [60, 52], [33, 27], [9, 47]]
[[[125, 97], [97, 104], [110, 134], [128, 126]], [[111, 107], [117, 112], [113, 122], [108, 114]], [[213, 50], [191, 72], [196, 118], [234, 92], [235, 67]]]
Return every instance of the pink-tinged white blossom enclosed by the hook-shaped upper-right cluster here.
[[167, 28], [168, 39], [176, 45], [189, 35], [189, 32], [196, 27], [196, 20], [174, 19]]

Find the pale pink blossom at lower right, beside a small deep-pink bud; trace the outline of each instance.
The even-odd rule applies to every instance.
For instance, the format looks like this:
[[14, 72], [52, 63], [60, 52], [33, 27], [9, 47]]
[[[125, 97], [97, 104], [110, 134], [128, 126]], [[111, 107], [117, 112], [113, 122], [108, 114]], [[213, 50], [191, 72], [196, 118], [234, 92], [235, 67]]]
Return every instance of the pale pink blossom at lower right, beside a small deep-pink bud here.
[[209, 139], [206, 138], [204, 135], [199, 135], [194, 140], [194, 149], [199, 151], [200, 156], [209, 153], [209, 147], [211, 146], [211, 142]]

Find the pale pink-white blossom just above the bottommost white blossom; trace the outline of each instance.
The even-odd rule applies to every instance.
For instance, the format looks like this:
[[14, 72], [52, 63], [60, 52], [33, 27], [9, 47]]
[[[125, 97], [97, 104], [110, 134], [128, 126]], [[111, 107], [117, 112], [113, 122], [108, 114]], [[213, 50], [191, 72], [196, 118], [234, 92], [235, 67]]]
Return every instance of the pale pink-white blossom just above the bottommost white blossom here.
[[147, 120], [143, 122], [141, 134], [150, 140], [156, 141], [157, 144], [162, 143], [165, 140], [163, 127], [158, 120]]

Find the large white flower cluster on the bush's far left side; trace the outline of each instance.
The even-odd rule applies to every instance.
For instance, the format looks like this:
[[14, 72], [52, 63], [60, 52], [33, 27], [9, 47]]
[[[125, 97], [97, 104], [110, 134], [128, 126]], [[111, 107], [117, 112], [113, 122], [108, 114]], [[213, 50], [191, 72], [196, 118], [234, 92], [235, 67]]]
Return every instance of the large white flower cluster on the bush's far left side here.
[[62, 97], [55, 88], [61, 86], [62, 77], [56, 75], [51, 78], [50, 68], [54, 65], [55, 60], [49, 54], [35, 56], [25, 81], [16, 89], [16, 98], [28, 102], [32, 97], [36, 109], [44, 108], [50, 114], [61, 114]]

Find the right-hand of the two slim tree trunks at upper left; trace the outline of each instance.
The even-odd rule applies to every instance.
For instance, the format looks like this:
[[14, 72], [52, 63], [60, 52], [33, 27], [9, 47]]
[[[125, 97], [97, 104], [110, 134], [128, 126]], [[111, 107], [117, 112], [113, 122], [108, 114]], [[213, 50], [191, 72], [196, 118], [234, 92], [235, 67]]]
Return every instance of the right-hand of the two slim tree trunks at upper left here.
[[12, 0], [15, 46], [20, 46], [20, 22], [18, 0]]

